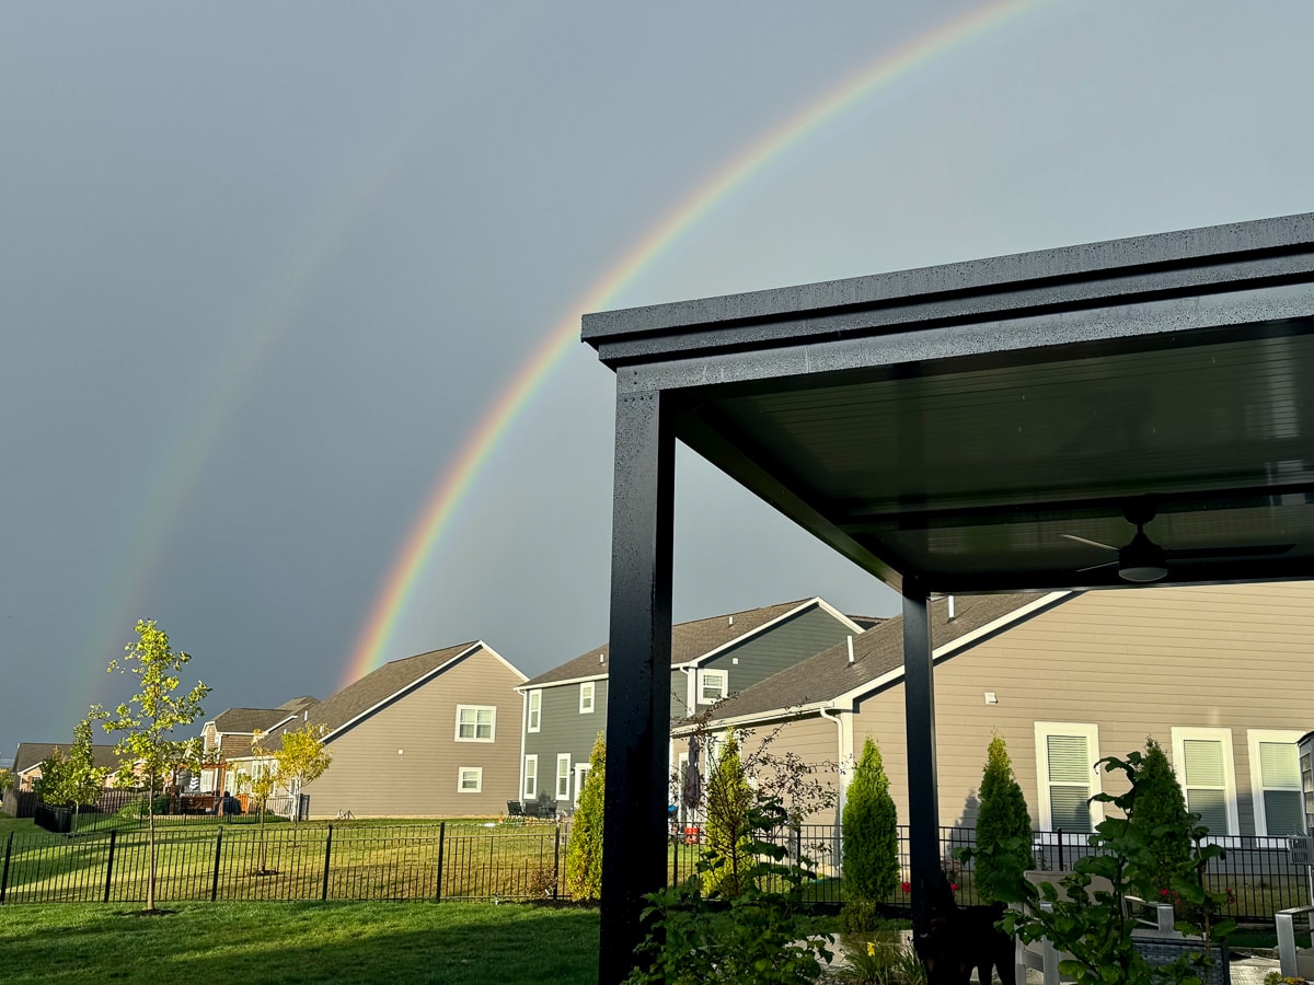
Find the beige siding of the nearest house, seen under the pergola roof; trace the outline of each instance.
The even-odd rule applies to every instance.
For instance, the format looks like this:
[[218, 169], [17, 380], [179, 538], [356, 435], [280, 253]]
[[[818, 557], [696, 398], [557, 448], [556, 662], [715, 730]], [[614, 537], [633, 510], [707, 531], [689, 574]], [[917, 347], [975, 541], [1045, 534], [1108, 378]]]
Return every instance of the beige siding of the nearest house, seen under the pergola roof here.
[[[1231, 730], [1234, 834], [1254, 834], [1247, 730], [1314, 728], [1311, 644], [1314, 582], [1301, 582], [1088, 592], [950, 657], [936, 666], [941, 822], [975, 822], [995, 729], [1038, 825], [1037, 721], [1097, 725], [1101, 755], [1154, 735], [1169, 758], [1172, 729], [1193, 726]], [[901, 684], [862, 701], [853, 741], [880, 745], [907, 818], [903, 703]]]

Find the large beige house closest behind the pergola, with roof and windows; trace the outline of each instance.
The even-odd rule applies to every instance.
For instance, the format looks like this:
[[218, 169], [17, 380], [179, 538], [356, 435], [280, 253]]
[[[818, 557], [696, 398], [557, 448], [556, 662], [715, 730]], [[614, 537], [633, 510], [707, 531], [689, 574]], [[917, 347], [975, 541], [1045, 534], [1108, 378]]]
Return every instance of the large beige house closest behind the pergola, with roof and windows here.
[[[1294, 743], [1314, 718], [1314, 582], [940, 599], [932, 640], [941, 823], [975, 825], [997, 732], [1038, 831], [1091, 830], [1089, 797], [1125, 788], [1095, 762], [1152, 735], [1212, 834], [1303, 833]], [[871, 735], [907, 820], [901, 619], [857, 637], [851, 662], [836, 646], [745, 690], [716, 725], [778, 729], [775, 751], [840, 763], [840, 801]]]

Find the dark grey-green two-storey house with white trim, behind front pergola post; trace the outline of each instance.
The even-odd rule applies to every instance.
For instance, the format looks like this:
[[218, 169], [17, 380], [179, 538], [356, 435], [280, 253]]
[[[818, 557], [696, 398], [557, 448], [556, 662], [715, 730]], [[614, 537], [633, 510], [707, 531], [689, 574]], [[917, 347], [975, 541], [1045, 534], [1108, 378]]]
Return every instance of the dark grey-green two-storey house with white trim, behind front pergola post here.
[[[671, 628], [670, 720], [707, 712], [727, 695], [857, 636], [879, 620], [851, 619], [821, 599], [681, 623]], [[520, 799], [572, 810], [589, 754], [607, 721], [606, 645], [518, 690], [524, 697]]]

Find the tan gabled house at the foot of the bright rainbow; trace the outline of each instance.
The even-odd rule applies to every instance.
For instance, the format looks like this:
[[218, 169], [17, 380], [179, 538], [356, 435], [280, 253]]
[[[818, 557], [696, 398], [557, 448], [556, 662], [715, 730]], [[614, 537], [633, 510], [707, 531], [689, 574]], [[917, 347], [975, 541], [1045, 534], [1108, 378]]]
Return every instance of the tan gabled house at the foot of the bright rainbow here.
[[325, 729], [331, 766], [301, 791], [313, 818], [502, 814], [515, 796], [523, 682], [482, 641], [422, 653], [275, 728], [268, 747], [286, 729]]

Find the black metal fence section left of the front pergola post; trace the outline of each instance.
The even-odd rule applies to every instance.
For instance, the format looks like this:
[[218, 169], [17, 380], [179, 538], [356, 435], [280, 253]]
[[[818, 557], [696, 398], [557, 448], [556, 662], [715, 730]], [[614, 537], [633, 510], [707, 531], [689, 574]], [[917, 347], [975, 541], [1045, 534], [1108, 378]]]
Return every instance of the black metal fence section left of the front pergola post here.
[[[0, 904], [141, 902], [148, 833], [0, 843]], [[565, 865], [556, 825], [495, 829], [217, 825], [156, 831], [158, 901], [557, 898]]]

